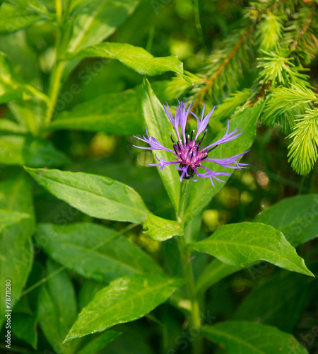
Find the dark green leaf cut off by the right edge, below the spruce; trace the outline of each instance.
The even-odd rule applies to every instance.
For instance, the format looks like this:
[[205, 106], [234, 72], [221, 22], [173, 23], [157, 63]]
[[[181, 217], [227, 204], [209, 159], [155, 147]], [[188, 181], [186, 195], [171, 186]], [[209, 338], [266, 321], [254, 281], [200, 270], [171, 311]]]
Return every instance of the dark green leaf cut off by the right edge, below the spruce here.
[[294, 247], [305, 244], [318, 236], [318, 194], [285, 198], [257, 215], [254, 222], [275, 227]]

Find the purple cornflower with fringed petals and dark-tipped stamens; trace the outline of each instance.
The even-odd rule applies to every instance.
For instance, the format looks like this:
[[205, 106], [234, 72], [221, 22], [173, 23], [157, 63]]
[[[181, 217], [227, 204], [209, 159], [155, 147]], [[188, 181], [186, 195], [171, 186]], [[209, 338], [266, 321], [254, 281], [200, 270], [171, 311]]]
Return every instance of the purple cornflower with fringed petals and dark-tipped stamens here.
[[[213, 159], [208, 157], [208, 154], [212, 152], [212, 150], [216, 149], [218, 145], [225, 144], [225, 142], [230, 142], [231, 140], [234, 140], [238, 136], [243, 134], [242, 132], [236, 134], [240, 130], [240, 128], [233, 130], [232, 132], [229, 133], [230, 122], [228, 120], [228, 129], [226, 130], [225, 135], [217, 142], [213, 142], [212, 144], [203, 147], [202, 141], [207, 132], [207, 130], [205, 129], [208, 125], [208, 120], [210, 119], [213, 110], [216, 107], [214, 107], [213, 110], [211, 110], [206, 115], [206, 117], [204, 117], [204, 108], [205, 108], [204, 105], [204, 108], [202, 110], [201, 120], [194, 113], [190, 111], [192, 108], [191, 104], [187, 108], [187, 102], [185, 103], [183, 101], [179, 102], [179, 105], [175, 112], [175, 118], [173, 118], [169, 105], [167, 105], [167, 107], [163, 105], [163, 108], [165, 108], [165, 113], [167, 115], [167, 118], [169, 118], [172, 126], [175, 128], [175, 132], [177, 133], [177, 142], [175, 142], [174, 139], [172, 139], [172, 134], [171, 134], [173, 150], [168, 149], [167, 147], [163, 147], [163, 145], [160, 144], [160, 142], [158, 142], [157, 139], [155, 139], [154, 137], [149, 137], [148, 129], [146, 130], [148, 138], [146, 138], [144, 135], [143, 135], [143, 139], [141, 139], [140, 137], [136, 137], [142, 142], [146, 142], [147, 144], [150, 145], [150, 147], [138, 147], [139, 149], [158, 150], [158, 151], [165, 150], [166, 152], [171, 152], [173, 154], [171, 161], [165, 161], [163, 158], [160, 157], [158, 158], [157, 154], [155, 154], [155, 158], [159, 161], [159, 163], [149, 164], [149, 166], [160, 166], [160, 169], [163, 170], [165, 166], [175, 165], [175, 167], [179, 171], [180, 182], [182, 182], [182, 179], [189, 179], [194, 177], [194, 175], [196, 175], [195, 179], [193, 180], [194, 182], [198, 181], [199, 177], [210, 178], [213, 187], [214, 187], [213, 178], [216, 179], [216, 181], [224, 182], [220, 178], [218, 178], [218, 176], [230, 176], [230, 173], [212, 171], [211, 169], [208, 169], [206, 166], [202, 165], [204, 161], [211, 161], [215, 164], [221, 165], [223, 167], [227, 167], [228, 169], [242, 169], [247, 166], [247, 164], [241, 164], [240, 162], [237, 162], [237, 159], [240, 156], [246, 154], [249, 150], [243, 152], [242, 154], [237, 154], [232, 157], [228, 157], [227, 159]], [[185, 134], [185, 127], [187, 124], [187, 117], [189, 113], [194, 115], [197, 122], [196, 134], [194, 135], [194, 130], [192, 130], [191, 136]], [[181, 135], [179, 133], [179, 126], [181, 128]], [[201, 135], [201, 133], [203, 132], [204, 134], [202, 135], [201, 139], [199, 139], [199, 135]], [[197, 142], [197, 140], [199, 140], [199, 142]], [[136, 145], [134, 146], [136, 147]], [[201, 169], [201, 172], [198, 171], [199, 169]]]

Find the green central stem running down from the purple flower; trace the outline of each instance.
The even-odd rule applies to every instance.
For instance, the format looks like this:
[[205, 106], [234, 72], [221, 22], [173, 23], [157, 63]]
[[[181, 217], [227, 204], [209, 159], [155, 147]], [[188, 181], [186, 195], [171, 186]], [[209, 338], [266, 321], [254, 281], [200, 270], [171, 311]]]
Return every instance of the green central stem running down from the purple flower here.
[[[185, 195], [187, 191], [187, 185], [189, 181], [182, 181], [179, 194], [179, 207], [177, 213], [177, 219], [181, 219], [184, 222], [184, 204], [185, 204]], [[186, 280], [187, 295], [191, 303], [191, 315], [190, 315], [190, 329], [192, 332], [196, 333], [196, 336], [193, 338], [192, 342], [192, 353], [200, 354], [201, 353], [201, 336], [199, 336], [199, 331], [201, 327], [200, 319], [200, 309], [199, 309], [199, 300], [196, 297], [196, 287], [194, 284], [194, 276], [192, 271], [192, 249], [187, 246], [187, 242], [183, 236], [177, 236], [177, 242], [179, 244], [179, 251], [182, 259], [184, 279]]]

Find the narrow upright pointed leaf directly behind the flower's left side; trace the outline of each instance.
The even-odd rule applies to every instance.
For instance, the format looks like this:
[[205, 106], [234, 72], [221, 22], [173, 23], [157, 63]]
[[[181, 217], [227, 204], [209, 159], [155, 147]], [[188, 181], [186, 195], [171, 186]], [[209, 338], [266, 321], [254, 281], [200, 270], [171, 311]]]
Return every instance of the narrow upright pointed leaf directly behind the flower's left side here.
[[[164, 147], [170, 147], [170, 133], [173, 132], [172, 125], [167, 115], [165, 115], [163, 105], [161, 105], [158, 98], [155, 97], [155, 93], [153, 93], [151, 84], [147, 79], [143, 81], [142, 105], [149, 135], [155, 137]], [[154, 152], [153, 156], [155, 156]], [[172, 159], [172, 154], [170, 154], [170, 152], [160, 151], [158, 157], [168, 161]], [[160, 170], [158, 167], [158, 172], [163, 180], [172, 205], [175, 207], [175, 210], [177, 210], [180, 190], [179, 173], [174, 166], [167, 166], [163, 170]]]

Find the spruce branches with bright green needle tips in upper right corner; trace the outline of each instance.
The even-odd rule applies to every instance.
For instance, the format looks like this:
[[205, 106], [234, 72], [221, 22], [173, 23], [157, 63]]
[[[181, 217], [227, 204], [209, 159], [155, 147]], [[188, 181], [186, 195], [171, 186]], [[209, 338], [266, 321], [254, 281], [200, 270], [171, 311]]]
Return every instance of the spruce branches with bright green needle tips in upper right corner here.
[[317, 59], [317, 28], [317, 1], [255, 1], [188, 91], [194, 108], [218, 104], [215, 121], [264, 100], [263, 124], [290, 139], [288, 161], [302, 175], [317, 161], [318, 98], [305, 74]]

